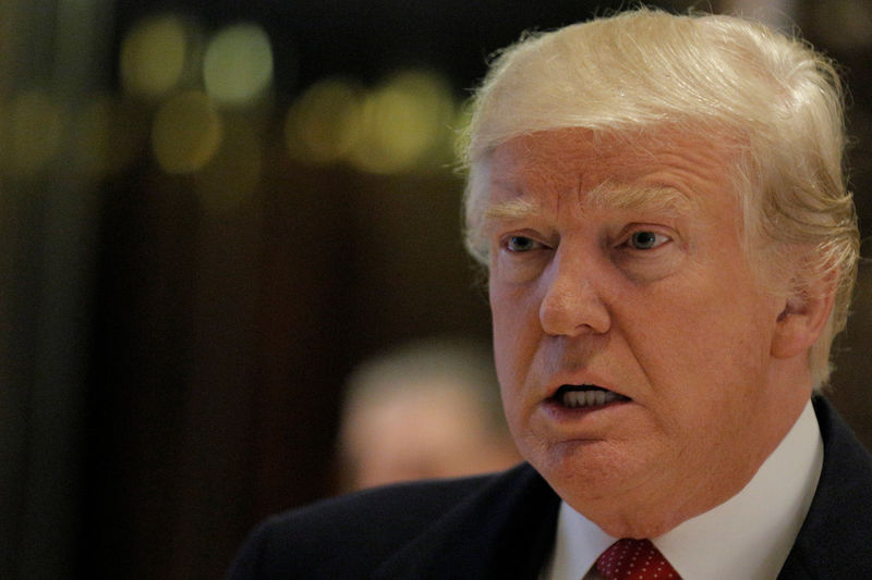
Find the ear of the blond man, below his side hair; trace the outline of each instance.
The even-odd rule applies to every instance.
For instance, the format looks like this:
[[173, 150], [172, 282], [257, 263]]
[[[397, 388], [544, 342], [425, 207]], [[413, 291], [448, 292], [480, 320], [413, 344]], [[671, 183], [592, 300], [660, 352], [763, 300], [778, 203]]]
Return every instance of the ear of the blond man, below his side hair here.
[[835, 295], [835, 276], [828, 275], [785, 300], [775, 323], [772, 356], [792, 358], [808, 353], [829, 321]]

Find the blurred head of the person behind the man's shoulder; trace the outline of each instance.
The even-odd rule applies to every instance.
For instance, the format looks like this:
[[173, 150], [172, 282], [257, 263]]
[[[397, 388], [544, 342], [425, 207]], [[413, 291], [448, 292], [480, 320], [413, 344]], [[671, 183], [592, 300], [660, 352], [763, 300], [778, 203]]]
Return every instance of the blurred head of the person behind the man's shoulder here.
[[339, 431], [341, 490], [499, 471], [520, 457], [493, 357], [471, 341], [389, 349], [349, 377]]

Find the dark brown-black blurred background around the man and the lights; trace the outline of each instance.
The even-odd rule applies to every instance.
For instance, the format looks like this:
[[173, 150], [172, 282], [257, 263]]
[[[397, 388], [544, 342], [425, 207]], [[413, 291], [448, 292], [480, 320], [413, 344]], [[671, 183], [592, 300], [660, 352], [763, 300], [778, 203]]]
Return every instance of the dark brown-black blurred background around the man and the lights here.
[[[294, 161], [283, 111], [327, 75], [373, 85], [410, 66], [437, 71], [462, 100], [522, 30], [620, 4], [0, 0], [0, 118], [35, 87], [65, 110], [118, 95], [122, 40], [166, 10], [205, 30], [256, 22], [275, 58], [259, 185], [232, 210], [204, 206], [198, 177], [162, 172], [147, 147], [121, 171], [83, 176], [71, 132], [41, 171], [4, 170], [0, 577], [220, 577], [257, 520], [332, 493], [352, 366], [422, 335], [486, 341], [488, 311], [460, 242], [461, 175]], [[782, 4], [845, 65], [868, 235], [872, 12], [860, 0]], [[116, 125], [135, 133], [150, 114]], [[868, 279], [832, 397], [872, 444]]]

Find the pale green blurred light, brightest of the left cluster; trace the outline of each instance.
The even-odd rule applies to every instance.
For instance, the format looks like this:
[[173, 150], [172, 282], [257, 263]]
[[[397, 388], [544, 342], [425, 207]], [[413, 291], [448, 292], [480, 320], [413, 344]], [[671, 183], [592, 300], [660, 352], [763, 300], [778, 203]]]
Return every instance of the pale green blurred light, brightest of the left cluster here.
[[246, 104], [263, 95], [272, 82], [272, 47], [264, 29], [237, 24], [216, 34], [206, 47], [203, 82], [222, 104]]

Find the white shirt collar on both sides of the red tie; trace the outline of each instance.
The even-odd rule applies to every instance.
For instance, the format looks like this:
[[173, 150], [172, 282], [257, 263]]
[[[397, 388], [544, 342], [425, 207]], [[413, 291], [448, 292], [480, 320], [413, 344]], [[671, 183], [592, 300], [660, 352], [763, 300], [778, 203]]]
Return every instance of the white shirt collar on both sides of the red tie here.
[[[810, 400], [742, 491], [652, 541], [685, 580], [775, 578], [806, 519], [822, 465]], [[564, 502], [543, 579], [584, 578], [615, 540]]]

